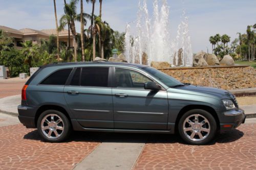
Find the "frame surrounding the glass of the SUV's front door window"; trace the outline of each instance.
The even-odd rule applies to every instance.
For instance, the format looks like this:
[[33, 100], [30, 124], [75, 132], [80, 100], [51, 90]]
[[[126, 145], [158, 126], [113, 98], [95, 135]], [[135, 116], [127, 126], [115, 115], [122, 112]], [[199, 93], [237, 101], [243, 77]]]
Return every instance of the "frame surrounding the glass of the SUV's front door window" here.
[[151, 91], [151, 90], [147, 90], [147, 89], [144, 89], [144, 88], [137, 88], [137, 87], [117, 87], [117, 84], [116, 84], [116, 68], [120, 68], [120, 69], [129, 69], [129, 70], [132, 70], [132, 71], [135, 71], [135, 72], [139, 72], [140, 74], [142, 74], [143, 76], [145, 76], [146, 78], [152, 80], [153, 82], [156, 82], [158, 85], [161, 86], [161, 90], [159, 91], [166, 91], [166, 89], [161, 85], [159, 84], [157, 81], [154, 80], [154, 78], [152, 78], [151, 76], [145, 74], [144, 72], [142, 71], [139, 71], [137, 69], [133, 69], [133, 68], [126, 68], [126, 67], [119, 67], [119, 66], [114, 66], [112, 68], [112, 88], [116, 88], [116, 89], [126, 89], [126, 90], [144, 90], [144, 91]]

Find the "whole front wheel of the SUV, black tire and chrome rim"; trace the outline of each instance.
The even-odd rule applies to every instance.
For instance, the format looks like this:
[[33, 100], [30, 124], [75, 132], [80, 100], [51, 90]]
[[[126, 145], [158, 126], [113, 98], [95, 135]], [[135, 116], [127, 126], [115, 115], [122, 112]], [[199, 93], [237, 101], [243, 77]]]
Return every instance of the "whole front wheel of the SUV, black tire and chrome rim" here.
[[189, 144], [206, 144], [216, 134], [217, 124], [214, 116], [201, 109], [187, 111], [179, 121], [179, 133]]

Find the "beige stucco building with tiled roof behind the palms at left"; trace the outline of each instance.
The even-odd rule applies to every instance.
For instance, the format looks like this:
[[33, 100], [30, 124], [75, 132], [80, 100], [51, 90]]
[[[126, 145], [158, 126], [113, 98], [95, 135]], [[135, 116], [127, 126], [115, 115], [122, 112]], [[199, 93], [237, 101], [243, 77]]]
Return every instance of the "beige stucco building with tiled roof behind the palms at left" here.
[[[39, 44], [41, 40], [48, 40], [50, 35], [57, 35], [56, 29], [45, 29], [45, 30], [34, 30], [34, 29], [21, 29], [15, 30], [9, 27], [0, 26], [0, 30], [4, 30], [8, 36], [13, 37], [14, 46], [16, 48], [22, 48], [22, 42], [32, 41], [33, 44]], [[68, 30], [63, 30], [59, 32], [59, 42], [61, 45], [69, 45], [69, 35]], [[73, 35], [70, 32], [70, 46], [74, 46], [73, 44]]]

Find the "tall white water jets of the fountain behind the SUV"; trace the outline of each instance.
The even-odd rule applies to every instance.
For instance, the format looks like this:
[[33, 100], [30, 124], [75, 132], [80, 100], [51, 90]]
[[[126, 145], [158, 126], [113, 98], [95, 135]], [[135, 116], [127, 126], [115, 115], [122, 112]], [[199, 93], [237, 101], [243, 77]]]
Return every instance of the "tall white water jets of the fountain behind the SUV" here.
[[185, 10], [181, 16], [177, 36], [172, 39], [169, 28], [169, 7], [166, 0], [155, 0], [153, 17], [148, 14], [146, 0], [139, 1], [136, 35], [131, 34], [127, 23], [125, 56], [127, 62], [150, 65], [152, 61], [167, 61], [173, 66], [191, 66], [193, 54], [188, 34], [188, 18]]

